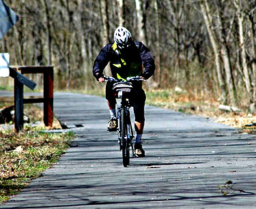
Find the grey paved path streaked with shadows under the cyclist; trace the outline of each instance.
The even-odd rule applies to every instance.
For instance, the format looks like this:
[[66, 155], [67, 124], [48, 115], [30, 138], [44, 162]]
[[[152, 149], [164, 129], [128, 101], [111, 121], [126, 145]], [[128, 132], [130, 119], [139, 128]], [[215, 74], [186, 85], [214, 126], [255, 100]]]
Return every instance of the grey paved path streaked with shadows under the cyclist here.
[[[124, 168], [103, 98], [55, 93], [54, 108], [72, 146], [0, 208], [256, 208], [254, 135], [147, 106], [146, 157]], [[227, 180], [248, 193], [221, 195]]]

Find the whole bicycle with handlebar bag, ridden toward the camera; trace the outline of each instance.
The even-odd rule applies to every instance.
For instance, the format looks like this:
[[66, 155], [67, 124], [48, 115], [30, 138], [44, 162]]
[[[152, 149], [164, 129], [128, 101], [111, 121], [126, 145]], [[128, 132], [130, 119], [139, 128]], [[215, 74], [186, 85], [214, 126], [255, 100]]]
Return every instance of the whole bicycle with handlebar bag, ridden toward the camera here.
[[104, 81], [114, 82], [113, 91], [117, 99], [117, 124], [118, 140], [124, 167], [130, 164], [130, 147], [132, 148], [132, 157], [134, 157], [134, 148], [132, 138], [134, 138], [132, 124], [130, 122], [130, 101], [129, 95], [132, 92], [132, 82], [145, 81], [139, 76], [128, 77], [126, 81], [115, 79], [113, 77], [104, 77]]

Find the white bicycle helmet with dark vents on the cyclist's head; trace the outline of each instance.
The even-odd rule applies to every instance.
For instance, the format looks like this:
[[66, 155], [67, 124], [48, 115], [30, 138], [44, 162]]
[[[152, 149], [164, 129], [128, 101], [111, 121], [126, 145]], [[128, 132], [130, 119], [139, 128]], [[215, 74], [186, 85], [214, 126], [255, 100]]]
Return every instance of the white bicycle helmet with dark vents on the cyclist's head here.
[[117, 29], [115, 29], [114, 41], [118, 48], [127, 48], [130, 46], [131, 40], [132, 35], [130, 35], [130, 32], [125, 27], [119, 26]]

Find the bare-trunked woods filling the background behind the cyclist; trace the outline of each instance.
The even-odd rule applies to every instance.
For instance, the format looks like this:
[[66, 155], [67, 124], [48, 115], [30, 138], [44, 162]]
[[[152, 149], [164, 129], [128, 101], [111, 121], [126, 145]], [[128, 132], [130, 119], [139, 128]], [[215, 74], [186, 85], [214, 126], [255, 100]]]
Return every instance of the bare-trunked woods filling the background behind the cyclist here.
[[253, 0], [5, 0], [20, 16], [0, 41], [12, 65], [55, 65], [55, 87], [90, 89], [119, 25], [152, 50], [150, 88], [179, 86], [232, 106], [256, 103]]

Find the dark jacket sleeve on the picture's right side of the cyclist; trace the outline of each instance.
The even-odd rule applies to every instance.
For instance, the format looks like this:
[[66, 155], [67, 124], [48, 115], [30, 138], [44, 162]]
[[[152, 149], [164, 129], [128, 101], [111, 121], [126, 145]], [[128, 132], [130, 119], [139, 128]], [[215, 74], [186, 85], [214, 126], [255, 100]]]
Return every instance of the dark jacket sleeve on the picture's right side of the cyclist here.
[[141, 61], [145, 68], [142, 76], [148, 79], [154, 74], [156, 65], [150, 50], [144, 44], [140, 43], [140, 45]]

